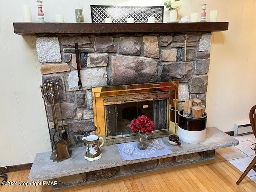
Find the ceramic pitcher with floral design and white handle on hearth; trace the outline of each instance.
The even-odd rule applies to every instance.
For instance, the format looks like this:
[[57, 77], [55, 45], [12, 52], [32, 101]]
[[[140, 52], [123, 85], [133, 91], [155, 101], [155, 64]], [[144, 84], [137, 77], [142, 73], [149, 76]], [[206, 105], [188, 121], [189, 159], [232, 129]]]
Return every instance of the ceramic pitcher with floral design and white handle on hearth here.
[[[99, 140], [102, 140], [102, 144], [99, 145]], [[100, 148], [104, 144], [104, 140], [102, 137], [98, 137], [96, 135], [88, 135], [87, 137], [83, 137], [82, 140], [86, 141], [86, 151], [84, 158], [88, 161], [94, 161], [100, 159], [102, 153], [100, 152]]]

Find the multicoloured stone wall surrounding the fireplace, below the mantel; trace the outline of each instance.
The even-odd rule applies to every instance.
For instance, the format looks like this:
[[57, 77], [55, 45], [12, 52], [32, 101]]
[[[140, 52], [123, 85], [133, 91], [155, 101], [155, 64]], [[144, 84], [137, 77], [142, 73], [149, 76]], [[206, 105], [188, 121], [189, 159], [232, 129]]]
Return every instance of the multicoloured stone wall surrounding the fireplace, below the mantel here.
[[[59, 82], [64, 126], [72, 146], [83, 146], [84, 132], [94, 130], [92, 87], [179, 81], [178, 100], [199, 98], [206, 103], [210, 33], [77, 35], [83, 92], [78, 90], [74, 35], [36, 37], [42, 81]], [[57, 109], [57, 118], [60, 114]], [[50, 105], [50, 126], [53, 128]], [[60, 123], [61, 124], [61, 123]], [[53, 131], [53, 129], [52, 129]]]

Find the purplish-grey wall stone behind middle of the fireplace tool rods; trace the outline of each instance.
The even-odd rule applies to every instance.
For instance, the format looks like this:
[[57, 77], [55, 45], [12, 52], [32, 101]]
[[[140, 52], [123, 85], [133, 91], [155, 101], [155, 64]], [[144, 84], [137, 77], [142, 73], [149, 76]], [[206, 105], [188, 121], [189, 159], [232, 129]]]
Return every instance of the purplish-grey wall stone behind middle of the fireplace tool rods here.
[[[48, 112], [48, 119], [49, 119], [49, 121], [53, 121], [51, 106], [47, 105], [46, 108], [47, 108], [47, 112]], [[60, 106], [59, 106], [58, 103], [55, 104], [55, 109], [56, 109], [57, 119], [61, 120]], [[61, 109], [62, 109], [62, 117], [63, 117], [63, 119], [71, 119], [76, 114], [76, 106], [74, 104], [72, 104], [72, 103], [62, 103], [61, 104]]]

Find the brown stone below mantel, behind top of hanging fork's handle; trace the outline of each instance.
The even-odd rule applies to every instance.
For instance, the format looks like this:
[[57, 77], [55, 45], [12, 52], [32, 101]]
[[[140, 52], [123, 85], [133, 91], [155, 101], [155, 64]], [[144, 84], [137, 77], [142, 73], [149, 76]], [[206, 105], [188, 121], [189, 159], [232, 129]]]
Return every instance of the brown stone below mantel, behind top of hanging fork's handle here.
[[[88, 36], [77, 36], [76, 41], [77, 41], [78, 46], [80, 46], [80, 47], [86, 47], [86, 48], [92, 48], [93, 47], [92, 40]], [[74, 38], [74, 36], [62, 38], [61, 39], [61, 44], [63, 46], [75, 47], [75, 38]]]

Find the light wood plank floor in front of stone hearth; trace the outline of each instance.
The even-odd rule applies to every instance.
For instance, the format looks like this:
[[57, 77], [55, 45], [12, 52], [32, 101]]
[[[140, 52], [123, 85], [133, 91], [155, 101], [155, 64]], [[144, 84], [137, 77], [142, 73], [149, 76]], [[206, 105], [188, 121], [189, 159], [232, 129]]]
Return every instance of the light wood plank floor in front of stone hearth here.
[[[256, 183], [248, 177], [240, 185], [242, 174], [217, 154], [218, 160], [166, 170], [114, 178], [56, 192], [256, 192]], [[30, 170], [8, 173], [10, 181], [28, 181]], [[50, 192], [52, 186], [0, 186], [0, 192]]]

